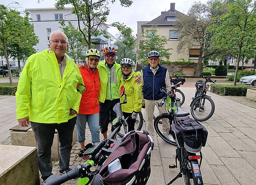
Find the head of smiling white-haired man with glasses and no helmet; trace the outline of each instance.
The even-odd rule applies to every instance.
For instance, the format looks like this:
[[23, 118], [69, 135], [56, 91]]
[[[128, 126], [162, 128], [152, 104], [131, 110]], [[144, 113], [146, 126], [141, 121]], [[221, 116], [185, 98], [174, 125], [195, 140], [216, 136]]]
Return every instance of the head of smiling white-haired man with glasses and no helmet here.
[[61, 58], [66, 53], [68, 42], [63, 33], [53, 33], [50, 40], [50, 49], [54, 51], [56, 58]]

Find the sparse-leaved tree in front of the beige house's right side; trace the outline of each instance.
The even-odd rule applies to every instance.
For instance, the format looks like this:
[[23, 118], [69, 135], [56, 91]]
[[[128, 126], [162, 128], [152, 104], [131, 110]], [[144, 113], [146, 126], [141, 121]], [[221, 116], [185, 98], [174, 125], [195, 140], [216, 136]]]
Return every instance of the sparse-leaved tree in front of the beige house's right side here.
[[[214, 7], [214, 8], [213, 8]], [[186, 52], [188, 49], [200, 49], [196, 74], [202, 72], [204, 58], [210, 58], [221, 50], [211, 44], [212, 32], [207, 31], [212, 24], [211, 17], [223, 13], [219, 0], [208, 1], [203, 4], [200, 1], [194, 2], [188, 10], [188, 15], [180, 15], [175, 21], [176, 32], [178, 33], [179, 44], [177, 52]]]

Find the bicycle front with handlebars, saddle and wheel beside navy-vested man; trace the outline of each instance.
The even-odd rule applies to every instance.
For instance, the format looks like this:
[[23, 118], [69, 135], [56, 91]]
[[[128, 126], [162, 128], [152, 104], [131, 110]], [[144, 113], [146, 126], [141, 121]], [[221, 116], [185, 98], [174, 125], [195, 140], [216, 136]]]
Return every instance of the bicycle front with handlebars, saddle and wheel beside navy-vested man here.
[[[175, 124], [177, 121], [177, 117], [188, 116], [189, 112], [185, 112], [180, 108], [180, 99], [176, 97], [175, 89], [176, 86], [180, 85], [182, 82], [180, 81], [176, 85], [172, 86], [172, 90], [167, 92], [165, 88], [162, 88], [161, 91], [165, 93], [164, 98], [158, 104], [158, 106], [162, 107], [165, 102], [169, 99], [171, 100], [167, 102], [167, 113], [163, 113], [156, 117], [154, 120], [154, 127], [156, 133], [164, 139], [167, 143], [172, 145], [176, 145], [175, 140], [172, 137], [171, 133], [171, 125]], [[171, 109], [169, 110], [169, 106]], [[163, 120], [162, 120], [163, 119]], [[168, 123], [167, 123], [168, 120]]]

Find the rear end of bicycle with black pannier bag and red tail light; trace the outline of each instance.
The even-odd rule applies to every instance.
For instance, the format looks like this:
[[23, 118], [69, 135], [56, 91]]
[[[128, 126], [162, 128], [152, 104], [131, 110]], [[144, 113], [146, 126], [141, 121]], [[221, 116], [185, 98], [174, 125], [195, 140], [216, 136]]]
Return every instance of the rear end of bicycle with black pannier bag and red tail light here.
[[[167, 185], [172, 184], [177, 178], [184, 176], [185, 185], [203, 185], [200, 171], [202, 163], [201, 147], [205, 146], [208, 136], [207, 129], [193, 119], [181, 119], [171, 126], [172, 136], [177, 143], [176, 164], [169, 168], [177, 168], [179, 161], [180, 172]], [[196, 153], [200, 155], [196, 155]], [[200, 159], [200, 163], [198, 160]]]

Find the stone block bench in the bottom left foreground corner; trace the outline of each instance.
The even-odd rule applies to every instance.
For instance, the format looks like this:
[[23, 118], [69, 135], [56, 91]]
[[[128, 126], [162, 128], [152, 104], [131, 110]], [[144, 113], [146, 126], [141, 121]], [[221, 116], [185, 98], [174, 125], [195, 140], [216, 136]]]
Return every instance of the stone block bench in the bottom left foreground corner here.
[[36, 147], [0, 145], [0, 185], [40, 185]]

